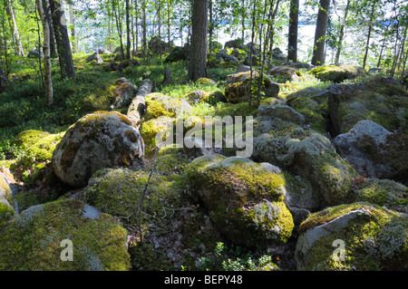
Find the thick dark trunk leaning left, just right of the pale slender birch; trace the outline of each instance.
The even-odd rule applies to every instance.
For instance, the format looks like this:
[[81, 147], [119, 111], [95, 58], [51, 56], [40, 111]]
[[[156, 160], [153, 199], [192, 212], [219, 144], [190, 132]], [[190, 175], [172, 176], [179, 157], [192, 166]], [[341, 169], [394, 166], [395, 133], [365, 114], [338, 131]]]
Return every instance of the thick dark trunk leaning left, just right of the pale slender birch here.
[[70, 38], [66, 27], [65, 12], [61, 0], [50, 0], [51, 12], [53, 14], [53, 31], [57, 43], [57, 51], [60, 59], [62, 78], [75, 77], [73, 66], [73, 53], [71, 51]]

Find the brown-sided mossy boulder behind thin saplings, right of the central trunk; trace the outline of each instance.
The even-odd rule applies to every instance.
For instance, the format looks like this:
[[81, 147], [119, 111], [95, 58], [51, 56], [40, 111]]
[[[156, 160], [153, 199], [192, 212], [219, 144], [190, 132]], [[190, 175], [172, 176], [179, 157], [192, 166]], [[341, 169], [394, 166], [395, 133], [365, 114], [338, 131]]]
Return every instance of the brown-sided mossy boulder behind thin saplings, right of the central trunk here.
[[[259, 73], [252, 72], [252, 79], [259, 80]], [[265, 97], [277, 97], [280, 86], [277, 82], [272, 82], [267, 75], [264, 75], [261, 85], [261, 92]], [[229, 102], [238, 103], [248, 101], [251, 95], [251, 72], [239, 72], [228, 75], [228, 82], [225, 88], [225, 96]]]

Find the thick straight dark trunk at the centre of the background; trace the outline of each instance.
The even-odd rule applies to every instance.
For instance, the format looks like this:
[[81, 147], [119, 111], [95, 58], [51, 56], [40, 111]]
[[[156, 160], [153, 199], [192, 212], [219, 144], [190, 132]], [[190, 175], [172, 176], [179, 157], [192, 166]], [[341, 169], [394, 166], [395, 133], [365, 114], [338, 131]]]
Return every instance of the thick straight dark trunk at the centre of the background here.
[[189, 58], [190, 81], [207, 77], [207, 33], [209, 0], [194, 0], [191, 16], [191, 50]]

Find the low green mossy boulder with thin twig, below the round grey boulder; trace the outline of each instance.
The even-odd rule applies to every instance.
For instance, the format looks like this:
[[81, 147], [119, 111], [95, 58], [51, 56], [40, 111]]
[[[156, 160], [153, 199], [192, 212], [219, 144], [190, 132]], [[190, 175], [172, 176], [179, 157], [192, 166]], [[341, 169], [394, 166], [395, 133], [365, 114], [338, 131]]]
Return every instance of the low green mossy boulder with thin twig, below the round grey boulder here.
[[180, 205], [182, 189], [182, 177], [150, 176], [150, 173], [147, 170], [100, 169], [89, 180], [81, 200], [104, 213], [126, 217], [125, 226], [139, 227], [142, 222], [139, 229], [144, 230], [154, 222], [150, 216], [160, 220], [172, 210], [170, 207]]

